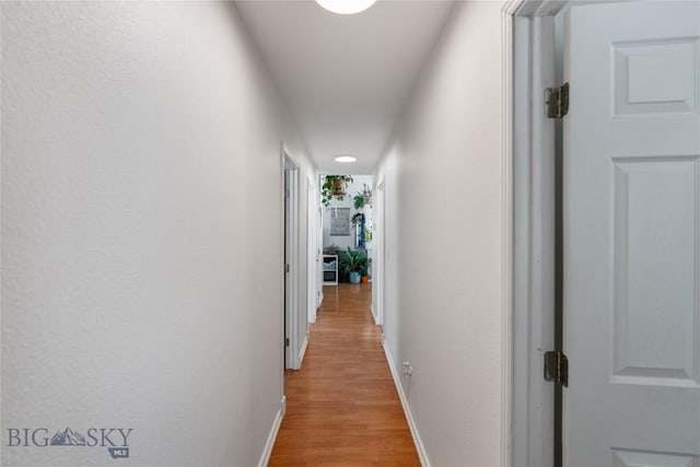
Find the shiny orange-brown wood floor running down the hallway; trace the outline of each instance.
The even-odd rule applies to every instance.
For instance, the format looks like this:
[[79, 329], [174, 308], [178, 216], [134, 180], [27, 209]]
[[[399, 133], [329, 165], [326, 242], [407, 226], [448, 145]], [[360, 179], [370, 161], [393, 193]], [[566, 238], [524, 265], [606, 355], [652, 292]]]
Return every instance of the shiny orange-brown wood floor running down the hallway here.
[[270, 466], [420, 466], [370, 314], [371, 284], [324, 288]]

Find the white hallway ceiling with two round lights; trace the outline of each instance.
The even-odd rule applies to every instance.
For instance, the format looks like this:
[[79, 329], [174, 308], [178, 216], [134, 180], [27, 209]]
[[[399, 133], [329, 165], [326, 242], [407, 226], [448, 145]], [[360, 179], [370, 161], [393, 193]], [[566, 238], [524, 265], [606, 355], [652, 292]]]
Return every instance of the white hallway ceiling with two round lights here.
[[[371, 174], [453, 3], [378, 0], [354, 15], [328, 12], [311, 0], [236, 7], [316, 167]], [[346, 153], [358, 162], [334, 161]]]

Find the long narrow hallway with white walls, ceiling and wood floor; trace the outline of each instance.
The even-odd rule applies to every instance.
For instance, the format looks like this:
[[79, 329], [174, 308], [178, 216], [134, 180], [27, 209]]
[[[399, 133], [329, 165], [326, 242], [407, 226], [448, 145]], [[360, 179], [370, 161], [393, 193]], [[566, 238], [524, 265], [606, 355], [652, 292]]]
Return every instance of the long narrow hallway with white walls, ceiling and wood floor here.
[[0, 2], [0, 464], [509, 466], [509, 4]]

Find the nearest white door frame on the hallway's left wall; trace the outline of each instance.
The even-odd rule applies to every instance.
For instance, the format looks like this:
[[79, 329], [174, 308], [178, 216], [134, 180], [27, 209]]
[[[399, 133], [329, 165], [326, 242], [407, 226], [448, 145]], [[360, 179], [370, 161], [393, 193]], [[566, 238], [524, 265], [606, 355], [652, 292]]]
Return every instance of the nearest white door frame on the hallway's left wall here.
[[[282, 341], [284, 369], [299, 370], [299, 174], [300, 164], [290, 149], [282, 143], [282, 290], [284, 303], [284, 329], [282, 339], [289, 338], [289, 346]], [[289, 183], [289, 194], [287, 194]], [[289, 232], [289, 235], [288, 235]], [[289, 271], [285, 267], [289, 265]], [[287, 347], [287, 351], [284, 350]]]

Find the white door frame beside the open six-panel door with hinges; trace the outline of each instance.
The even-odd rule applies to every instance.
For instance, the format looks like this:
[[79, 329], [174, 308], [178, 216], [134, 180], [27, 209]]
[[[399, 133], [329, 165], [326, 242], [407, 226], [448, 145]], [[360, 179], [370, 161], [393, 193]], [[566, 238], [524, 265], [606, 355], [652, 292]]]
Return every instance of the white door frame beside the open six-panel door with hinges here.
[[[504, 9], [506, 87], [504, 142], [512, 170], [505, 211], [511, 326], [505, 349], [512, 466], [553, 466], [555, 385], [542, 377], [544, 352], [555, 349], [555, 121], [545, 117], [545, 87], [555, 82], [555, 16], [570, 0], [512, 0]], [[510, 34], [509, 34], [510, 32]], [[509, 360], [510, 359], [510, 360]]]

